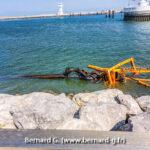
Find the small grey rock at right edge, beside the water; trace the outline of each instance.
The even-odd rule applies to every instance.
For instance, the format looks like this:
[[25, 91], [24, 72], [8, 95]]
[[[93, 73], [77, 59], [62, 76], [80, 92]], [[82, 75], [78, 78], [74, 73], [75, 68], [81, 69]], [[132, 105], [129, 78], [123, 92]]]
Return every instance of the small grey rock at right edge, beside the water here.
[[136, 99], [143, 111], [150, 111], [150, 96], [142, 96]]

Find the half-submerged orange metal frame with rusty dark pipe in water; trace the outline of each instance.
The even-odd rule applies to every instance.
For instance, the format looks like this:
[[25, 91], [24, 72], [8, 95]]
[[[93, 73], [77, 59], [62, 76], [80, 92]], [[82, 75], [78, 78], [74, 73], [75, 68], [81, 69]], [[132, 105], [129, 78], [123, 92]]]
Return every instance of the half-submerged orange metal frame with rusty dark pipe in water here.
[[[131, 67], [121, 67], [127, 63], [131, 64]], [[116, 64], [111, 68], [100, 68], [97, 66], [88, 65], [88, 68], [94, 69], [91, 73], [88, 73], [85, 69], [79, 68], [66, 68], [63, 74], [53, 75], [33, 75], [33, 76], [20, 76], [19, 78], [32, 78], [32, 79], [64, 79], [64, 78], [78, 78], [82, 80], [89, 80], [94, 83], [105, 81], [110, 86], [115, 85], [117, 82], [123, 82], [126, 80], [137, 81], [139, 84], [149, 87], [150, 79], [134, 78], [141, 73], [150, 73], [149, 68], [136, 67], [134, 59], [130, 58], [121, 63]], [[131, 74], [131, 75], [127, 75]]]

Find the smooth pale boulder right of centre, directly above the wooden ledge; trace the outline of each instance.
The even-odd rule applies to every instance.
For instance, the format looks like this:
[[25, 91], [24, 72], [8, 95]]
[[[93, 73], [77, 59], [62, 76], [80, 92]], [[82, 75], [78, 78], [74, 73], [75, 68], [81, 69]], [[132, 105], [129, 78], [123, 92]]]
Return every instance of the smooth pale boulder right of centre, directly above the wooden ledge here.
[[115, 103], [86, 104], [79, 112], [80, 119], [95, 124], [97, 130], [115, 130], [126, 120], [128, 110]]

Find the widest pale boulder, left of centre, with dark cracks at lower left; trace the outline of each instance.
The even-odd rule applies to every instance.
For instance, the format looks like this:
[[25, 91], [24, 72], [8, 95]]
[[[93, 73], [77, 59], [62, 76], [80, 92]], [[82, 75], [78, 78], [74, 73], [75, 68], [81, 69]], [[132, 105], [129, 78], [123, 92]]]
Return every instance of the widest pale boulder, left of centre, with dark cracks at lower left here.
[[22, 98], [25, 104], [10, 111], [18, 129], [55, 129], [78, 110], [65, 94], [31, 93]]

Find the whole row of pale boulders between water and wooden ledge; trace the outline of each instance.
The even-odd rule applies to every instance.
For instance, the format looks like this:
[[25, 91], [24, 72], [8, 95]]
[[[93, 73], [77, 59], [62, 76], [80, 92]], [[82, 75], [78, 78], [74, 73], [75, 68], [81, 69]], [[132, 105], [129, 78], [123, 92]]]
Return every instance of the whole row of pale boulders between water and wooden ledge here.
[[118, 89], [0, 94], [0, 128], [150, 132], [150, 96], [134, 99]]

